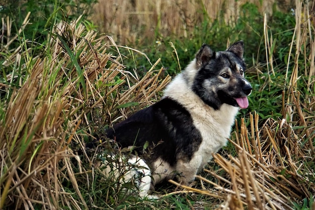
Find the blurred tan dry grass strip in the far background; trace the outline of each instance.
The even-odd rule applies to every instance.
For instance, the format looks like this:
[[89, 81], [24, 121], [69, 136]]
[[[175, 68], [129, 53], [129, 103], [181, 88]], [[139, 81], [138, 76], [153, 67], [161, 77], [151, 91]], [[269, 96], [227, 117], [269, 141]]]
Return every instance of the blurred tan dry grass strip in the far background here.
[[91, 19], [102, 32], [110, 34], [119, 43], [141, 44], [145, 39], [155, 37], [156, 33], [161, 37], [176, 35], [189, 38], [205, 15], [211, 21], [222, 16], [226, 23], [233, 26], [241, 12], [240, 6], [247, 2], [256, 4], [261, 13], [269, 15], [274, 5], [285, 12], [294, 8], [287, 0], [100, 0]]

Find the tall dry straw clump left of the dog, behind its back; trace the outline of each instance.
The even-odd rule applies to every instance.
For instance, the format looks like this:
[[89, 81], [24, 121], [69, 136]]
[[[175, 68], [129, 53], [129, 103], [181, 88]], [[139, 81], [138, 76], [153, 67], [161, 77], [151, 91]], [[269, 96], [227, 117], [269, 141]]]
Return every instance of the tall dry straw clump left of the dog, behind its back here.
[[[94, 118], [111, 122], [125, 117], [132, 108], [129, 102], [137, 101], [139, 108], [150, 104], [170, 81], [169, 76], [159, 78], [163, 71], [155, 69], [159, 60], [143, 78], [136, 71], [125, 71], [121, 46], [108, 36], [87, 31], [80, 21], [55, 27], [47, 55], [32, 58], [28, 50], [19, 48], [4, 62], [24, 63], [21, 72], [26, 75], [18, 78], [13, 72], [6, 76], [8, 85], [0, 86], [10, 98], [0, 120], [1, 209], [88, 208], [70, 160], [78, 159], [68, 146], [83, 142], [80, 130]], [[61, 185], [64, 179], [72, 183], [75, 198]]]

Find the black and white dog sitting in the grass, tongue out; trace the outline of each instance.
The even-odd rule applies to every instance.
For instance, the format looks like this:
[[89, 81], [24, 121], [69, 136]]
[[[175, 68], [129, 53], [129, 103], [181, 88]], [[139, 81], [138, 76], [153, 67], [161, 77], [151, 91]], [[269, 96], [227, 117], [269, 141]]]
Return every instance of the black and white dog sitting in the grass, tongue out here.
[[227, 143], [235, 116], [249, 106], [252, 92], [243, 54], [243, 40], [217, 52], [203, 44], [160, 101], [106, 130], [121, 148], [132, 146], [135, 155], [128, 163], [139, 170], [127, 180], [137, 175], [141, 197], [148, 196], [150, 184], [174, 177], [190, 184]]

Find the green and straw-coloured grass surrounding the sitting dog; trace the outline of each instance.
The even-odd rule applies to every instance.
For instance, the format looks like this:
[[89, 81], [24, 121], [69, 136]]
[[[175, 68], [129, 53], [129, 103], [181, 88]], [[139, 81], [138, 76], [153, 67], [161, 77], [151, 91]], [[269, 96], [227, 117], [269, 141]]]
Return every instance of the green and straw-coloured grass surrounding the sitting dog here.
[[[112, 24], [102, 28], [98, 13], [70, 10], [73, 1], [43, 1], [44, 7], [17, 2], [0, 11], [0, 209], [315, 209], [311, 2], [296, 1], [294, 13], [274, 7], [264, 16], [259, 5], [231, 1], [237, 15], [229, 19], [227, 6], [211, 13], [206, 1], [187, 1], [201, 11], [193, 16], [184, 10], [188, 5], [175, 1], [182, 15], [173, 16], [172, 28], [165, 27], [169, 17], [159, 15], [167, 1], [130, 1], [135, 9], [155, 11], [156, 24], [130, 13], [137, 18], [126, 20], [141, 24], [119, 25], [128, 26], [124, 36], [115, 31], [115, 10], [107, 21]], [[74, 3], [88, 8], [93, 1]], [[117, 17], [123, 14], [117, 10]], [[111, 29], [117, 34], [97, 32]], [[132, 189], [121, 182], [124, 170], [119, 179], [105, 176], [104, 167], [125, 163], [130, 151], [110, 140], [87, 149], [92, 134], [159, 100], [203, 42], [223, 50], [239, 39], [254, 88], [250, 108], [242, 110], [229, 144], [196, 185], [172, 181], [156, 189], [161, 200], [142, 200], [124, 190]], [[100, 151], [117, 156], [100, 157]]]

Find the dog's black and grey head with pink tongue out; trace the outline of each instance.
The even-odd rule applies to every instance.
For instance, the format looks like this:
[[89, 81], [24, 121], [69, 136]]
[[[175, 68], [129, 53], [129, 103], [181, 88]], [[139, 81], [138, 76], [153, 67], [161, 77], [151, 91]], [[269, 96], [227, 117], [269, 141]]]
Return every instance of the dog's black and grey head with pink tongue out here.
[[225, 103], [247, 108], [251, 84], [244, 78], [244, 42], [225, 51], [214, 52], [203, 44], [196, 54], [192, 90], [209, 106], [219, 109]]

